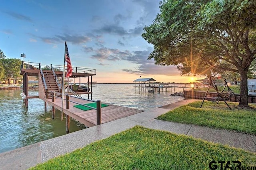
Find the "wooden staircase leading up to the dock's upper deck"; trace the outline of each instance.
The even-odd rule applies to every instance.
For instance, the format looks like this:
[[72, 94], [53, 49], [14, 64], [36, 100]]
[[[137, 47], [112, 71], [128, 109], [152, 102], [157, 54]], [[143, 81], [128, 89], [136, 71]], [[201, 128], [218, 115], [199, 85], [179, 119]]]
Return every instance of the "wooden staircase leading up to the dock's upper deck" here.
[[[55, 91], [55, 92], [58, 92], [60, 93], [60, 89], [58, 87], [58, 83], [54, 77], [54, 74], [52, 72], [49, 72], [49, 71], [43, 71], [43, 74], [44, 74], [44, 80], [45, 80], [45, 83], [46, 83], [46, 87], [47, 87], [47, 90], [48, 92], [50, 91]], [[45, 89], [45, 86], [43, 85], [44, 87], [44, 94], [46, 96], [46, 89]], [[61, 96], [60, 94], [56, 94], [56, 96]], [[46, 99], [52, 99], [52, 96], [46, 96]]]

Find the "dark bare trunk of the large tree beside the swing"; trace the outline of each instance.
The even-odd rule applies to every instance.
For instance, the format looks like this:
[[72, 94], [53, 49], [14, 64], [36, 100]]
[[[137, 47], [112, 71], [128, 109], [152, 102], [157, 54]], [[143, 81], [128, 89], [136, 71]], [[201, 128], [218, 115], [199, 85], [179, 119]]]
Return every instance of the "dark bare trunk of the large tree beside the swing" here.
[[248, 105], [248, 86], [247, 86], [247, 71], [240, 72], [240, 107], [249, 107]]

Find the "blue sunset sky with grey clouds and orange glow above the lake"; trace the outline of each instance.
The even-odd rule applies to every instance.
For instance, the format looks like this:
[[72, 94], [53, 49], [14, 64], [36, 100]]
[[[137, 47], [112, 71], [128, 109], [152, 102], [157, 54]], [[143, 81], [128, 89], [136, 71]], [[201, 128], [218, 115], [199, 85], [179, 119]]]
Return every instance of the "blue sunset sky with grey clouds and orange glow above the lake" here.
[[[0, 49], [8, 58], [96, 69], [98, 83], [190, 82], [176, 66], [154, 65], [141, 36], [159, 12], [158, 0], [1, 0]], [[22, 58], [20, 58], [22, 59]]]

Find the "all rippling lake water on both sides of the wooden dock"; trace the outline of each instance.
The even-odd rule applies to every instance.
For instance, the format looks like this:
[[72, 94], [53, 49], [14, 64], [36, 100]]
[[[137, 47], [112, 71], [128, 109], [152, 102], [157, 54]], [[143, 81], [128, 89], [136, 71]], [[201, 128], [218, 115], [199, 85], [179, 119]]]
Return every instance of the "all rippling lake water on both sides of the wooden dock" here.
[[[185, 87], [184, 84], [175, 86]], [[189, 87], [189, 85], [186, 85]], [[182, 92], [176, 88], [175, 92]], [[179, 100], [184, 97], [170, 96], [171, 92], [139, 93], [134, 84], [98, 84], [92, 87], [92, 99], [104, 103], [148, 110]], [[24, 107], [19, 90], [0, 91], [0, 153], [20, 148], [29, 144], [66, 134], [65, 119], [61, 121], [61, 112], [55, 111], [52, 119], [52, 107], [47, 104], [44, 112], [44, 101], [28, 99], [28, 109]], [[29, 91], [36, 95], [38, 91]], [[173, 91], [174, 93], [174, 91]], [[82, 95], [88, 98], [88, 95]], [[70, 119], [70, 132], [86, 128], [83, 124]]]

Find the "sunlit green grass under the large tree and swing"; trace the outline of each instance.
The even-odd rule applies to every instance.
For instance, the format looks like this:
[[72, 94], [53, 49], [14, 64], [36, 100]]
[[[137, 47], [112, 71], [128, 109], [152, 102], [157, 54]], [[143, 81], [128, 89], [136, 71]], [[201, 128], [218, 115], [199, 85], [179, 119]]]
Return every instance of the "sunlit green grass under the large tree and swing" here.
[[[201, 103], [201, 101], [197, 101], [178, 107], [157, 119], [256, 134], [255, 109], [241, 109], [237, 107], [237, 103], [228, 103], [232, 108], [231, 111], [223, 101], [218, 104], [204, 101], [200, 108]], [[255, 105], [250, 106], [256, 107]]]

